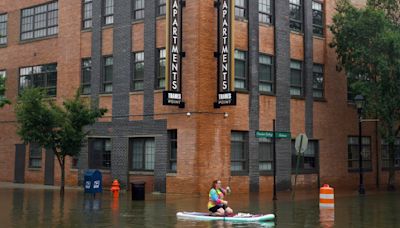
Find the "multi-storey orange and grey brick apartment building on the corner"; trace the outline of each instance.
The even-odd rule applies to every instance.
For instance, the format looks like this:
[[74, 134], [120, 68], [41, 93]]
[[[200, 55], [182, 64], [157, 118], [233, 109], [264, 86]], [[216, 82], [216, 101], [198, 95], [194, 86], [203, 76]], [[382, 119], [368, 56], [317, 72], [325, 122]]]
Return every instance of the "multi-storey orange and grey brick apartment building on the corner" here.
[[[91, 126], [79, 158], [69, 160], [67, 185], [81, 183], [84, 170], [96, 168], [105, 184], [113, 178], [125, 185], [145, 180], [146, 191], [206, 193], [216, 178], [230, 179], [235, 192], [271, 191], [272, 142], [256, 138], [255, 131], [271, 131], [276, 119], [277, 131], [292, 136], [276, 143], [279, 190], [291, 188], [293, 139], [299, 133], [310, 142], [298, 185], [358, 187], [357, 112], [329, 48], [335, 1], [233, 1], [236, 105], [220, 107], [214, 106], [219, 85], [214, 0], [182, 5], [184, 107], [163, 105], [166, 2], [0, 3], [6, 97], [15, 102], [27, 86], [41, 86], [62, 101], [81, 87], [84, 98], [109, 110]], [[15, 132], [13, 106], [6, 106], [0, 110], [0, 181], [58, 184], [51, 151], [22, 144]], [[385, 184], [386, 147], [375, 123], [363, 123], [363, 132], [366, 186]]]

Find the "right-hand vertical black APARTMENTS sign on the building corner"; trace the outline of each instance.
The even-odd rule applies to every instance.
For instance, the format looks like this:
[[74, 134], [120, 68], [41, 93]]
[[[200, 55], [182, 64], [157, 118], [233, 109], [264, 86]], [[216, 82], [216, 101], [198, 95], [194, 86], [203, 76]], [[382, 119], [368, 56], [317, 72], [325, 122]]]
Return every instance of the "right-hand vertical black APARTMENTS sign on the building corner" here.
[[219, 0], [218, 7], [218, 91], [214, 107], [236, 105], [234, 89], [234, 51], [233, 51], [233, 0]]

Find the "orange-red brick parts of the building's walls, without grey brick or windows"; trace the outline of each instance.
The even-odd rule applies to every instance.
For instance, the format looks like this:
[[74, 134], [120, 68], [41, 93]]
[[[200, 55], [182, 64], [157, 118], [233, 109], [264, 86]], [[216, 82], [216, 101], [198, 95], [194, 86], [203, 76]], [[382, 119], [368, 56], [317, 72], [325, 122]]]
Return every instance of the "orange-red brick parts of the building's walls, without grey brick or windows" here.
[[[18, 69], [22, 66], [38, 65], [51, 62], [58, 63], [57, 99], [74, 94], [80, 83], [80, 64], [82, 57], [91, 56], [91, 32], [81, 31], [80, 0], [59, 1], [59, 34], [57, 38], [41, 41], [20, 42], [20, 9], [44, 3], [44, 0], [5, 1], [2, 8], [8, 12], [8, 47], [0, 49], [0, 69], [7, 70], [6, 96], [15, 102], [18, 88]], [[363, 1], [357, 1], [359, 3]], [[332, 23], [334, 1], [325, 1], [326, 23]], [[75, 18], [76, 20], [71, 20]], [[248, 94], [239, 93], [236, 106], [213, 108], [216, 99], [217, 61], [213, 57], [217, 48], [216, 10], [213, 0], [188, 0], [183, 14], [183, 59], [182, 93], [186, 101], [185, 109], [163, 106], [162, 93], [156, 91], [155, 119], [167, 119], [168, 129], [178, 129], [178, 172], [168, 174], [167, 192], [207, 194], [212, 180], [222, 179], [228, 182], [230, 176], [230, 133], [232, 130], [247, 131]], [[156, 46], [165, 46], [165, 18], [157, 19]], [[247, 22], [235, 22], [235, 48], [248, 49]], [[132, 51], [144, 49], [143, 22], [132, 25]], [[102, 31], [102, 54], [112, 54], [113, 29]], [[352, 105], [346, 100], [346, 79], [343, 73], [336, 71], [335, 51], [329, 47], [332, 34], [326, 29], [324, 38], [314, 38], [314, 62], [325, 63], [325, 99], [314, 102], [314, 138], [320, 145], [320, 178], [321, 183], [335, 186], [356, 188], [358, 174], [349, 173], [347, 168], [347, 137], [357, 135], [357, 115]], [[302, 60], [304, 56], [303, 36], [291, 33], [291, 58]], [[274, 55], [274, 27], [260, 25], [260, 52]], [[279, 54], [279, 53], [278, 53]], [[275, 97], [260, 96], [260, 129], [272, 130], [272, 119], [275, 118]], [[107, 116], [112, 115], [112, 97], [101, 96], [100, 105], [109, 109]], [[295, 136], [304, 132], [304, 100], [291, 100], [291, 129]], [[191, 112], [191, 116], [186, 113]], [[224, 118], [224, 112], [228, 117]], [[130, 95], [131, 120], [143, 119], [143, 93]], [[0, 110], [0, 180], [12, 181], [14, 177], [15, 144], [20, 143], [16, 131], [12, 106]], [[110, 118], [103, 118], [110, 121]], [[374, 124], [365, 124], [365, 134], [371, 136], [373, 172], [366, 173], [368, 186], [376, 182], [376, 156]], [[40, 170], [26, 167], [26, 181], [43, 183], [45, 154]], [[28, 153], [26, 158], [28, 164]], [[55, 164], [55, 179], [59, 183], [59, 167]], [[76, 185], [77, 171], [67, 165], [66, 183]], [[399, 175], [398, 175], [399, 176]], [[130, 180], [145, 180], [146, 191], [153, 189], [152, 176], [131, 174]], [[399, 178], [399, 177], [398, 177]], [[386, 183], [387, 172], [381, 172], [381, 183]], [[110, 174], [103, 173], [105, 185], [111, 183]], [[316, 185], [316, 175], [299, 175], [300, 187]], [[182, 183], [192, 186], [183, 189]], [[249, 179], [246, 176], [235, 176], [231, 185], [237, 193], [248, 192]], [[272, 177], [260, 177], [260, 191], [272, 189]]]

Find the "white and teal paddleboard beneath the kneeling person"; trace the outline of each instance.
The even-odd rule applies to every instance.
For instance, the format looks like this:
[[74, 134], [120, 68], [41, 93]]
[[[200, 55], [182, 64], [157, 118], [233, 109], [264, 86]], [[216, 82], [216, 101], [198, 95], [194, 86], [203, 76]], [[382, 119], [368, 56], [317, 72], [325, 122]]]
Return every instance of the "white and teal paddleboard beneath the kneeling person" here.
[[176, 217], [189, 220], [224, 220], [232, 222], [259, 222], [275, 219], [274, 214], [253, 215], [248, 213], [238, 213], [233, 216], [214, 216], [202, 212], [178, 212], [176, 213]]

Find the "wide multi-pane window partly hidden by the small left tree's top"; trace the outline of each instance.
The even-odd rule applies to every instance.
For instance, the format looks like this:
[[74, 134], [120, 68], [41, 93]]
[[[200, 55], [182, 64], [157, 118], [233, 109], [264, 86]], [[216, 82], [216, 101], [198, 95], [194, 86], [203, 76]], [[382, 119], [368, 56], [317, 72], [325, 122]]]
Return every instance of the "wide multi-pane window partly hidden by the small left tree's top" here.
[[28, 87], [40, 87], [49, 96], [57, 95], [57, 64], [23, 67], [19, 69], [19, 91]]

